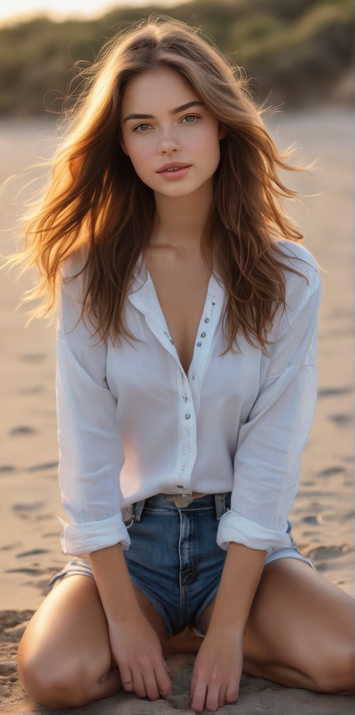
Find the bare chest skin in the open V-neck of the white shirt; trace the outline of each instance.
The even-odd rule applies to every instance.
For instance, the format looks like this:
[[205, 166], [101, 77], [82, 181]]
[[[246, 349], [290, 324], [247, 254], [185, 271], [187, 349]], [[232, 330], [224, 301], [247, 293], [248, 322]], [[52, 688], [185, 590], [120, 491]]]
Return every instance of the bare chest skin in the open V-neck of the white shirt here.
[[187, 375], [211, 270], [199, 260], [187, 265], [162, 265], [158, 260], [146, 260], [146, 268], [154, 282], [166, 325]]

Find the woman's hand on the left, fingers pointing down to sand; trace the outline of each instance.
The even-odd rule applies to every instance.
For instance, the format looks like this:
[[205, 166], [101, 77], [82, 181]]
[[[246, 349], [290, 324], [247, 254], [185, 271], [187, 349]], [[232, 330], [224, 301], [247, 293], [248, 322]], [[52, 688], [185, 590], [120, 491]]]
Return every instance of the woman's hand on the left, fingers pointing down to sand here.
[[171, 677], [161, 643], [144, 613], [111, 621], [109, 639], [124, 690], [149, 700], [171, 695]]

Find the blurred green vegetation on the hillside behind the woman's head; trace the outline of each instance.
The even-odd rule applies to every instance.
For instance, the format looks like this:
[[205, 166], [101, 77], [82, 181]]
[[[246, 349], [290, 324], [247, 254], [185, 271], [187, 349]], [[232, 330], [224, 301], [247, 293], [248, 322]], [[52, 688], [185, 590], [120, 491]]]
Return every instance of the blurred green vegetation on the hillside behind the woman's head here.
[[[74, 62], [154, 6], [119, 8], [94, 21], [46, 18], [0, 29], [0, 115], [61, 112]], [[351, 75], [352, 0], [193, 0], [165, 10], [211, 34], [244, 66], [258, 102], [288, 107], [334, 99]]]

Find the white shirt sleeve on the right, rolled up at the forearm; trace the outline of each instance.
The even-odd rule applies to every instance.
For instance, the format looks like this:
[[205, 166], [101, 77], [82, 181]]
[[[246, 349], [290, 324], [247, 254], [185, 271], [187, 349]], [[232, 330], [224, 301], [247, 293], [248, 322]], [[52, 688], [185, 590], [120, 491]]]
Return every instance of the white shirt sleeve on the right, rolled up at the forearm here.
[[261, 388], [239, 429], [231, 509], [219, 522], [217, 543], [266, 550], [290, 545], [287, 517], [294, 503], [316, 406], [316, 340], [321, 282], [315, 265], [291, 275], [286, 310], [262, 356]]

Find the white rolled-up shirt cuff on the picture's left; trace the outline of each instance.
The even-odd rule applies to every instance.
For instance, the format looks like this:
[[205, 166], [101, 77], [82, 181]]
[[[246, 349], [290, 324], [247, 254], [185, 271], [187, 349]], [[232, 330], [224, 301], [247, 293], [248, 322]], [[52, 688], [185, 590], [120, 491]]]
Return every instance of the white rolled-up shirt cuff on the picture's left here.
[[102, 521], [89, 521], [83, 524], [68, 524], [57, 517], [64, 531], [61, 534], [61, 548], [69, 556], [87, 556], [99, 548], [121, 543], [124, 551], [131, 546], [129, 533], [122, 521], [121, 513]]

